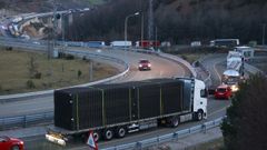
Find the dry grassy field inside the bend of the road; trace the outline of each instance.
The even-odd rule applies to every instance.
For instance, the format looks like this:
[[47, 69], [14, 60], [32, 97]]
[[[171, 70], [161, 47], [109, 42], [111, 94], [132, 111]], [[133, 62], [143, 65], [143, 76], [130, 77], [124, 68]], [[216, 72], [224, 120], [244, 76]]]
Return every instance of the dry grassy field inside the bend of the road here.
[[[30, 58], [36, 58], [41, 79], [30, 78]], [[48, 60], [43, 53], [7, 51], [0, 48], [0, 94], [56, 89], [89, 82], [89, 63], [81, 59]], [[81, 76], [78, 78], [78, 71]], [[93, 62], [93, 80], [113, 76], [118, 70], [109, 64]], [[32, 81], [34, 88], [27, 86]]]

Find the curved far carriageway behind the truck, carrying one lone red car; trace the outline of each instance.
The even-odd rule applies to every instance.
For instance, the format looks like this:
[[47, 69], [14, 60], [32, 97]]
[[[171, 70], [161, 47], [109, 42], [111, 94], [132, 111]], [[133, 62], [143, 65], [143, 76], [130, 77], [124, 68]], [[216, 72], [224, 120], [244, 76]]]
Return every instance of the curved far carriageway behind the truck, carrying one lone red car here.
[[[83, 49], [85, 50], [85, 49]], [[178, 63], [166, 60], [151, 54], [125, 52], [117, 50], [90, 50], [92, 52], [101, 52], [110, 57], [122, 58], [130, 63], [130, 72], [119, 79], [119, 82], [144, 80], [151, 78], [169, 78], [174, 76], [189, 77], [188, 70], [179, 66]], [[151, 71], [139, 71], [137, 69], [139, 59], [149, 59], [151, 62]], [[117, 82], [118, 82], [117, 81]], [[48, 112], [53, 110], [53, 97], [38, 97], [29, 98], [16, 102], [7, 102], [0, 104], [0, 118], [13, 117], [23, 114], [33, 114], [39, 112]]]

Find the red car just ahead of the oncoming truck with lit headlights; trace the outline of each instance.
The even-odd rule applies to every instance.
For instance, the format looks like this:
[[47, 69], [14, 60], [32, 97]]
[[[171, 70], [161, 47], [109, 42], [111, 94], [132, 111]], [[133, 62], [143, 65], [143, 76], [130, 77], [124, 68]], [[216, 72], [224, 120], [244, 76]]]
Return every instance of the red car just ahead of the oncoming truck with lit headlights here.
[[231, 97], [231, 89], [227, 84], [221, 84], [216, 88], [215, 90], [216, 99], [230, 99], [230, 97]]

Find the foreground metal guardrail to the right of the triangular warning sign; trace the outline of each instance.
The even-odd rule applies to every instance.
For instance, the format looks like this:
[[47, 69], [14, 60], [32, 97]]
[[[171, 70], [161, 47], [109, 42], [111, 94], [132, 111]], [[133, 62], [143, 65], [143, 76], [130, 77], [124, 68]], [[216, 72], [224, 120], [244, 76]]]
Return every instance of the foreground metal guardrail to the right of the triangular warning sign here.
[[121, 144], [121, 146], [110, 147], [110, 148], [106, 148], [102, 150], [139, 150], [139, 149], [141, 150], [145, 148], [159, 146], [160, 143], [177, 141], [180, 138], [184, 138], [184, 137], [192, 134], [192, 133], [198, 133], [198, 132], [206, 133], [207, 130], [220, 126], [222, 120], [224, 120], [224, 117], [218, 118], [212, 121], [209, 121], [209, 122], [205, 122], [199, 126], [188, 128], [188, 129], [175, 131], [172, 133], [168, 133], [168, 134], [164, 134], [164, 136], [159, 136], [156, 138], [150, 138], [150, 139], [146, 139], [146, 140], [137, 141], [137, 142], [130, 142], [130, 143], [126, 143], [126, 144]]

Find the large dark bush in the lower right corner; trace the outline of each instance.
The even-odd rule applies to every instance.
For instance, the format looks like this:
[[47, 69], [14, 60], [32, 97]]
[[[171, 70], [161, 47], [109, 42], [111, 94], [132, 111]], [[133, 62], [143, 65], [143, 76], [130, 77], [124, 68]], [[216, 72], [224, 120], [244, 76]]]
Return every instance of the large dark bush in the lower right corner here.
[[266, 150], [267, 79], [251, 76], [240, 84], [221, 130], [227, 150]]

